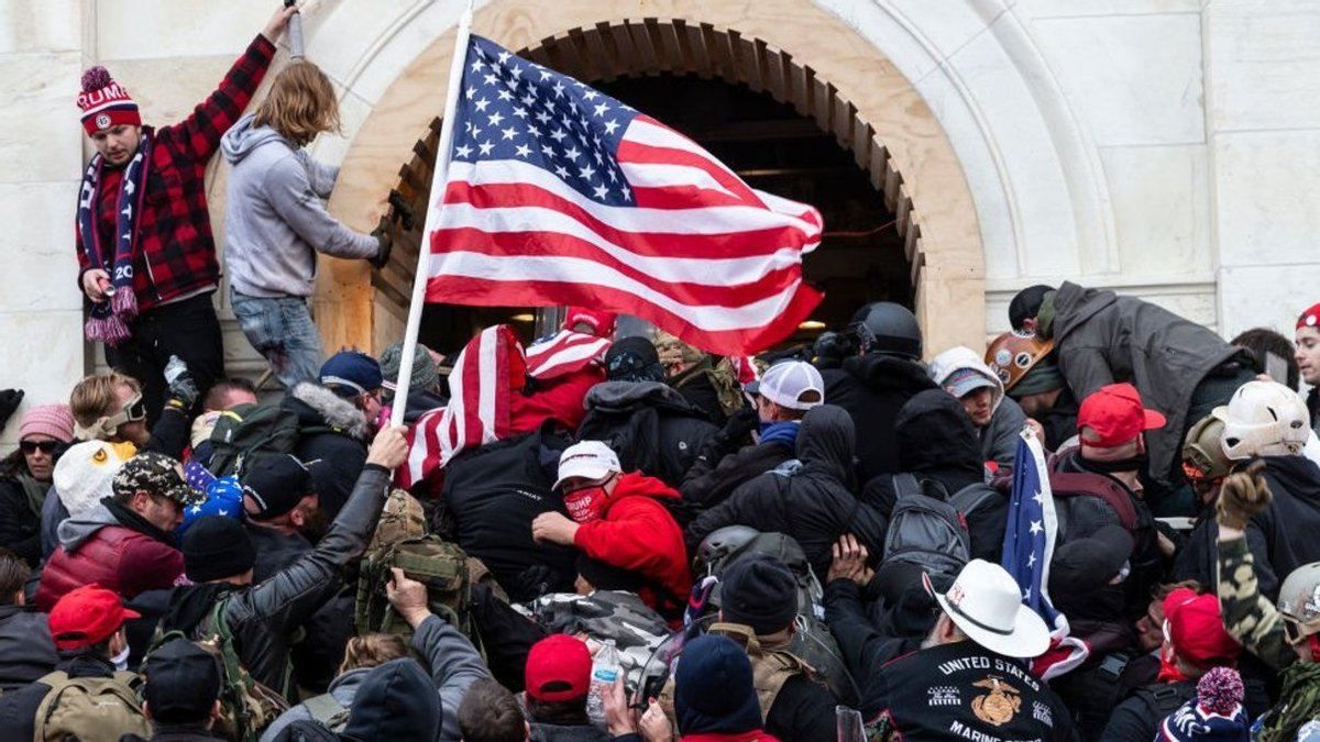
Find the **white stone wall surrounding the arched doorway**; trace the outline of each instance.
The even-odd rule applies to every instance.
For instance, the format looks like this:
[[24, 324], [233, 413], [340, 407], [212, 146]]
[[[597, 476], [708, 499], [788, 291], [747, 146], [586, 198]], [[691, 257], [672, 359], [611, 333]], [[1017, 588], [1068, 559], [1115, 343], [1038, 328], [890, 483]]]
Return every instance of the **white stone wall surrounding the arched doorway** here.
[[[1320, 227], [1320, 5], [801, 1], [855, 29], [909, 81], [956, 152], [983, 252], [982, 330], [1006, 323], [1018, 288], [1064, 279], [1151, 297], [1225, 333], [1287, 331], [1320, 298], [1309, 290], [1320, 279], [1311, 246]], [[453, 26], [462, 3], [314, 5], [309, 55], [341, 86], [345, 131], [313, 149], [338, 162], [364, 121], [389, 114], [378, 110], [385, 91]], [[626, 5], [643, 17], [675, 3]], [[759, 5], [719, 7], [737, 15]], [[107, 65], [145, 119], [169, 123], [214, 87], [268, 15], [255, 1], [0, 0], [0, 92], [11, 114], [0, 133], [0, 387], [55, 401], [95, 366], [81, 341], [71, 250], [87, 154], [73, 104], [81, 69]], [[223, 170], [210, 174], [218, 236]], [[937, 207], [915, 201], [919, 211]], [[337, 209], [370, 223], [380, 205]], [[227, 316], [223, 297], [218, 306]], [[256, 372], [259, 359], [232, 322], [226, 327], [234, 368]]]

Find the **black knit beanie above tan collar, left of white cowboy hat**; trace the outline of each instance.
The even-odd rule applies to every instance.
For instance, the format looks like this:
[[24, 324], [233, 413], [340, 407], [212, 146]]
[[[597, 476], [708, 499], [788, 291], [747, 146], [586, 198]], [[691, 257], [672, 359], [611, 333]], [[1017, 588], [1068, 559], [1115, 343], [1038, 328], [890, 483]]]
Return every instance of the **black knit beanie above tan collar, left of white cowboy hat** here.
[[788, 628], [797, 617], [793, 570], [768, 555], [734, 562], [721, 580], [719, 609], [726, 622], [751, 626], [758, 635]]

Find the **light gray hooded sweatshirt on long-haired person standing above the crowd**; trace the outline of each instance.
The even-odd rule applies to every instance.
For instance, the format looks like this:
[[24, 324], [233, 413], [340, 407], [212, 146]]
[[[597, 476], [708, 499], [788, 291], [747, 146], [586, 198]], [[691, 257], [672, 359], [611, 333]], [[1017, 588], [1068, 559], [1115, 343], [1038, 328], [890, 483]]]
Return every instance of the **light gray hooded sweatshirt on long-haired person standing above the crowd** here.
[[331, 217], [339, 168], [313, 160], [271, 127], [239, 119], [220, 141], [232, 165], [224, 201], [224, 267], [234, 290], [256, 297], [312, 296], [317, 252], [375, 257], [376, 238]]

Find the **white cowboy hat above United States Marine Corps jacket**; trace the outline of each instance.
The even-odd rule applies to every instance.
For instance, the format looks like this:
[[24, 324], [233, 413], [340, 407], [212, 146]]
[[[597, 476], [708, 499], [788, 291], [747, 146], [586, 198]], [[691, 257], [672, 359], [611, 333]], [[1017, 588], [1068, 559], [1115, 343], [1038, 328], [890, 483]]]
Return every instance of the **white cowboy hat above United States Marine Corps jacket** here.
[[974, 558], [942, 595], [925, 589], [969, 639], [1006, 658], [1036, 658], [1049, 648], [1049, 628], [1036, 611], [1022, 602], [1022, 590], [1008, 570]]

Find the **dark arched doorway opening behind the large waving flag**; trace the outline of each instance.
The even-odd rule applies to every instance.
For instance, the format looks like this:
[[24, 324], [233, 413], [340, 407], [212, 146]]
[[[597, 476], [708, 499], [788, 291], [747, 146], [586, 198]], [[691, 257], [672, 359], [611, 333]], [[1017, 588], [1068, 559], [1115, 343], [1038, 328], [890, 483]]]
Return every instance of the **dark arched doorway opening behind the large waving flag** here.
[[[814, 119], [742, 83], [690, 74], [623, 77], [594, 87], [692, 137], [755, 189], [810, 203], [825, 234], [804, 260], [807, 280], [825, 301], [784, 346], [809, 343], [842, 329], [869, 301], [912, 306], [911, 269], [895, 215], [853, 154]], [[524, 342], [556, 327], [554, 308], [426, 305], [421, 342], [441, 353], [461, 349], [482, 327], [508, 322]]]

